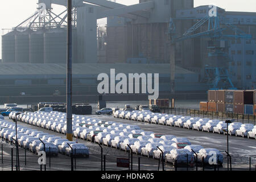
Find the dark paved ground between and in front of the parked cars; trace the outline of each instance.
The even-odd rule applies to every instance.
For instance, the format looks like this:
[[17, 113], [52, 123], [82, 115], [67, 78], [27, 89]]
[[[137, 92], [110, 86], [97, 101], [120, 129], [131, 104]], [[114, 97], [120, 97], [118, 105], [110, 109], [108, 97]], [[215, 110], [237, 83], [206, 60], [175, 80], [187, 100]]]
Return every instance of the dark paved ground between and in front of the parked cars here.
[[[112, 115], [92, 115], [92, 117], [101, 118], [108, 121], [122, 122], [122, 123], [133, 123], [141, 127], [145, 131], [154, 131], [155, 133], [163, 133], [175, 135], [176, 137], [187, 137], [192, 144], [200, 144], [205, 148], [217, 148], [218, 150], [226, 150], [226, 135], [220, 135], [215, 133], [206, 133], [202, 131], [193, 131], [188, 129], [183, 129], [179, 127], [155, 125], [144, 122], [134, 122], [125, 119], [113, 118]], [[42, 129], [40, 127], [27, 125], [25, 123], [19, 123], [31, 127], [32, 129], [47, 131], [49, 134], [54, 134], [56, 136], [61, 136], [65, 138], [65, 135], [55, 133], [51, 130]], [[75, 140], [75, 139], [74, 139]], [[79, 139], [79, 143], [84, 143], [89, 147], [90, 156], [85, 159], [76, 159], [76, 170], [100, 170], [101, 169], [101, 153], [100, 147], [97, 144], [87, 142]], [[9, 145], [9, 144], [5, 144]], [[116, 167], [116, 158], [128, 158], [129, 153], [124, 151], [119, 151], [114, 148], [103, 146], [104, 155], [106, 155], [106, 170], [127, 170], [127, 168]], [[10, 170], [10, 149], [4, 148], [4, 160], [3, 161], [3, 170]], [[229, 151], [232, 154], [232, 164], [233, 169], [248, 169], [249, 168], [249, 156], [256, 157], [256, 140], [247, 139], [241, 137], [229, 136]], [[24, 149], [23, 149], [24, 152]], [[24, 166], [22, 162], [22, 169], [36, 169], [39, 170], [40, 166], [37, 164], [38, 156], [27, 152], [27, 155], [31, 155], [32, 163], [27, 163], [27, 166]], [[158, 169], [158, 160], [148, 159], [142, 156], [133, 155], [133, 169], [138, 169], [138, 157], [141, 157], [141, 170], [157, 170]], [[15, 156], [14, 156], [15, 158]], [[24, 158], [24, 154], [21, 157]], [[24, 161], [24, 159], [23, 159]], [[14, 162], [15, 163], [15, 162]], [[75, 162], [74, 162], [75, 163]], [[252, 158], [252, 165], [255, 166], [255, 160]], [[56, 164], [56, 165], [55, 165]], [[71, 169], [71, 160], [67, 156], [59, 155], [57, 157], [51, 158], [51, 170], [70, 170]], [[170, 164], [164, 164], [166, 170], [174, 170], [174, 167]], [[226, 158], [224, 157], [224, 165], [221, 170], [226, 170]], [[44, 169], [44, 168], [43, 168]], [[47, 169], [49, 169], [49, 158], [47, 158]], [[162, 169], [162, 164], [160, 170]], [[179, 167], [179, 170], [185, 170], [184, 167]], [[195, 168], [191, 168], [195, 170]], [[200, 170], [201, 168], [199, 168]], [[212, 168], [207, 168], [213, 170]]]

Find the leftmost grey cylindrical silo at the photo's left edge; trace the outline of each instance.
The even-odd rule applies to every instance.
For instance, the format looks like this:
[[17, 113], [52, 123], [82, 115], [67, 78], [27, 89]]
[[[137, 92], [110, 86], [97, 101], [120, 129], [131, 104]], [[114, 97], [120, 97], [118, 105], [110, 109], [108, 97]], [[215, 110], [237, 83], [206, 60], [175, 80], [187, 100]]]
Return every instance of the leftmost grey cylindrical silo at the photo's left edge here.
[[15, 62], [15, 35], [18, 31], [14, 30], [2, 35], [2, 62]]

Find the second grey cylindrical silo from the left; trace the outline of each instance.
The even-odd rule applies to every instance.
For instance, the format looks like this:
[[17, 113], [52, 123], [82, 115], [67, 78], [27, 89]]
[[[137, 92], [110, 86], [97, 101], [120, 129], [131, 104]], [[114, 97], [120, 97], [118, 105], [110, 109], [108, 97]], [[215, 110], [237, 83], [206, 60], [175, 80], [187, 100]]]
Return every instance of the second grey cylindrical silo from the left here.
[[15, 62], [28, 63], [29, 62], [29, 31], [19, 32], [15, 35]]

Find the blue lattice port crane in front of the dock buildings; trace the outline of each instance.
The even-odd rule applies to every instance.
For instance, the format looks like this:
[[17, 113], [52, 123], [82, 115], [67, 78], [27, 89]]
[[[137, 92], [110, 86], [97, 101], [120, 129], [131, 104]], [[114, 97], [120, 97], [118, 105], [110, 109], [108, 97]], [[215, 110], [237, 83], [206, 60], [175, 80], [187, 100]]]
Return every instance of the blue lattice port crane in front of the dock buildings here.
[[[220, 16], [207, 16], [202, 18], [171, 18], [168, 28], [168, 34], [171, 40], [171, 54], [175, 54], [175, 43], [182, 42], [187, 39], [193, 39], [198, 37], [207, 37], [212, 40], [212, 42], [220, 41], [225, 42], [230, 39], [251, 39], [250, 34], [246, 34], [238, 27], [230, 23], [220, 23]], [[182, 36], [177, 36], [175, 20], [187, 20], [187, 19], [197, 19], [197, 22], [184, 32]], [[208, 23], [208, 28], [206, 31], [198, 32], [200, 27]], [[224, 34], [225, 30], [231, 30], [234, 34]], [[225, 46], [224, 46], [225, 47]], [[225, 60], [228, 60], [228, 54], [224, 51], [223, 46], [208, 46], [210, 52], [208, 53], [209, 57], [224, 57]], [[175, 56], [171, 55], [171, 72], [174, 71]], [[225, 63], [224, 63], [225, 64]], [[229, 78], [228, 69], [224, 67], [210, 67], [205, 65], [204, 68], [204, 77], [201, 80], [202, 82], [207, 82], [210, 89], [236, 89], [232, 81]], [[174, 76], [171, 76], [171, 82], [174, 82]], [[172, 86], [174, 84], [172, 83]], [[172, 88], [174, 90], [174, 88]]]

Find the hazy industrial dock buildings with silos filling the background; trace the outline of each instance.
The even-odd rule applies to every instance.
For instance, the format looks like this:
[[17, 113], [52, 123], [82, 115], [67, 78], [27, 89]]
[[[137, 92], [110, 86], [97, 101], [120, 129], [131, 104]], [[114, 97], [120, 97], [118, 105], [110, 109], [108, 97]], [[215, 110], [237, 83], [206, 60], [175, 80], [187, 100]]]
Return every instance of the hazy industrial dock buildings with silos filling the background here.
[[[52, 95], [59, 86], [64, 92], [67, 11], [55, 14], [51, 5], [67, 6], [67, 2], [38, 3], [37, 13], [2, 35], [0, 85], [52, 85], [42, 93]], [[194, 7], [193, 0], [140, 0], [131, 6], [73, 0], [77, 94], [97, 94], [97, 74], [110, 68], [120, 73], [160, 73], [159, 90], [164, 93], [256, 88], [256, 13], [216, 7], [217, 16], [211, 17], [210, 10], [210, 6]], [[107, 18], [106, 32], [97, 27], [101, 18]]]

